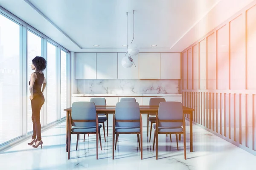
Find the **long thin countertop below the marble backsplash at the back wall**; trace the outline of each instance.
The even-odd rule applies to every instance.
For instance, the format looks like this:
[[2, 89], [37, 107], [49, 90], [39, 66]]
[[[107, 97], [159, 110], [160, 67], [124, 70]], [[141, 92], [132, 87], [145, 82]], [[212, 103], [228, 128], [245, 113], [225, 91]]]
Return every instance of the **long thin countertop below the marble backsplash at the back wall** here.
[[72, 94], [72, 97], [93, 97], [93, 96], [106, 96], [106, 97], [127, 97], [127, 96], [133, 96], [133, 97], [142, 97], [142, 96], [181, 96], [182, 94]]

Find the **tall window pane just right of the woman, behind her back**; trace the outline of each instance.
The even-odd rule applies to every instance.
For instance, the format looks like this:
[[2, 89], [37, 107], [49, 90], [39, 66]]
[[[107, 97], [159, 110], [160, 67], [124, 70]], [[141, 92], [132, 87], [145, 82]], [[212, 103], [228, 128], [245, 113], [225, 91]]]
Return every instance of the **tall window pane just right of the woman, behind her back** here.
[[47, 123], [57, 120], [56, 47], [47, 42]]

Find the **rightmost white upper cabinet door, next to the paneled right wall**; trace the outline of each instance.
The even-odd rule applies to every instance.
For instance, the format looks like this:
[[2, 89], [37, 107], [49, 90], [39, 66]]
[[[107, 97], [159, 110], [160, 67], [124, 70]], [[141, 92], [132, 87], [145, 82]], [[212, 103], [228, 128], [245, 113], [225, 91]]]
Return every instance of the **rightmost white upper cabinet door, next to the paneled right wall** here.
[[160, 79], [180, 79], [180, 53], [161, 53], [160, 65]]

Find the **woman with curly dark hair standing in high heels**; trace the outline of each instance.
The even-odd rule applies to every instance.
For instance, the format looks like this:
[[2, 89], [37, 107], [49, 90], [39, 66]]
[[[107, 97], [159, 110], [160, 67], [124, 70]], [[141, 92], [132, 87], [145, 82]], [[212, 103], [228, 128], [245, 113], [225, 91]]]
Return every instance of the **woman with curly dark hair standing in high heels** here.
[[43, 141], [41, 140], [40, 110], [44, 104], [43, 93], [46, 87], [46, 79], [42, 71], [46, 68], [46, 65], [47, 62], [43, 57], [37, 56], [32, 59], [31, 69], [35, 70], [35, 72], [31, 74], [29, 81], [29, 91], [31, 94], [29, 99], [31, 100], [32, 108], [33, 135], [32, 140], [30, 143], [28, 143], [28, 145], [32, 145], [35, 142], [35, 145], [33, 145], [35, 148], [37, 148], [39, 145], [41, 145], [41, 148], [43, 146]]

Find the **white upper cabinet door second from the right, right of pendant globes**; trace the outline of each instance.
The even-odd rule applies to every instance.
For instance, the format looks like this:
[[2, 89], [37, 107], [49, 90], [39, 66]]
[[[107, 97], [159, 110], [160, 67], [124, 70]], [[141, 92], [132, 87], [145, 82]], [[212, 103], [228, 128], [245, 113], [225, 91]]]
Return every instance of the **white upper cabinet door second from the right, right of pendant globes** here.
[[140, 79], [160, 79], [160, 53], [140, 53], [139, 62]]

